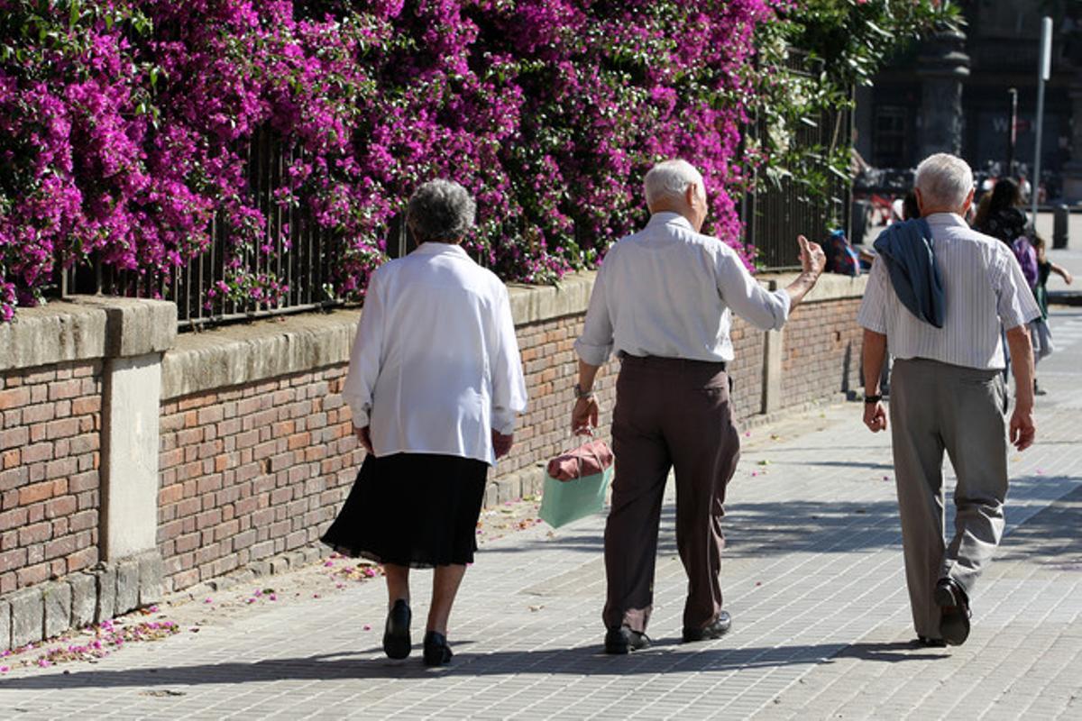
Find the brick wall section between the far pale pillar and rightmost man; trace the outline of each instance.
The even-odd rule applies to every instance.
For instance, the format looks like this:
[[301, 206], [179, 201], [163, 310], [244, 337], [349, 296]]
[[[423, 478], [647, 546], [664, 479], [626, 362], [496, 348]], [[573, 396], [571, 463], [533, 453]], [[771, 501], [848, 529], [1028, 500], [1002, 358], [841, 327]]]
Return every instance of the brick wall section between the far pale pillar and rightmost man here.
[[860, 298], [799, 307], [786, 325], [781, 388], [786, 405], [861, 387]]

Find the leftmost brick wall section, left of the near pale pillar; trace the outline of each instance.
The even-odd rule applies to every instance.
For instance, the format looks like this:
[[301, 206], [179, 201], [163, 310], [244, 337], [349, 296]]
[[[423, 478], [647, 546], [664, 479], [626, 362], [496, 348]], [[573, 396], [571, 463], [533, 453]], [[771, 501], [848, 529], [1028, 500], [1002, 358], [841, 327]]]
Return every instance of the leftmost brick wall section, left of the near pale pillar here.
[[0, 373], [0, 593], [98, 560], [100, 361]]

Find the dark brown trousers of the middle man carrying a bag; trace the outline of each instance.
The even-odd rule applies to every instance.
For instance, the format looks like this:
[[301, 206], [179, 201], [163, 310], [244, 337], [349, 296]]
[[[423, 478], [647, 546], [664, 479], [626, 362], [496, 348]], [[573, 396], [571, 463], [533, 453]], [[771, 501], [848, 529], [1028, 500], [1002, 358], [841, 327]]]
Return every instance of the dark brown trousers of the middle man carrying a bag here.
[[688, 578], [684, 626], [707, 626], [722, 610], [723, 504], [740, 457], [725, 365], [624, 356], [612, 412], [612, 451], [605, 625], [646, 630], [661, 503], [669, 470], [675, 467], [676, 547]]

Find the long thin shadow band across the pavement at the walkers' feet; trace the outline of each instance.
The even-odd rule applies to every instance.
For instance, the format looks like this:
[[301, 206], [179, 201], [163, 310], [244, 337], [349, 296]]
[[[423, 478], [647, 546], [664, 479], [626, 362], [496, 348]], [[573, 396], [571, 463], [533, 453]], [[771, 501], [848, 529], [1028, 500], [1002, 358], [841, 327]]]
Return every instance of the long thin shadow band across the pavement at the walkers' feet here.
[[[671, 642], [671, 643], [667, 643]], [[454, 647], [464, 645], [464, 642]], [[263, 683], [268, 681], [319, 681], [341, 679], [415, 679], [454, 676], [509, 676], [522, 673], [568, 676], [654, 676], [677, 671], [737, 671], [782, 666], [814, 666], [833, 663], [835, 657], [898, 663], [948, 657], [920, 652], [906, 643], [824, 643], [750, 649], [696, 647], [684, 651], [675, 639], [629, 656], [608, 656], [601, 645], [550, 651], [462, 651], [451, 666], [425, 668], [420, 653], [404, 662], [382, 656], [367, 657], [377, 650], [355, 654], [321, 654], [299, 658], [270, 658], [254, 663], [225, 662], [197, 666], [84, 670], [49, 676], [4, 679], [4, 689], [47, 691], [85, 687], [198, 686], [211, 684]], [[910, 649], [911, 653], [906, 653]]]

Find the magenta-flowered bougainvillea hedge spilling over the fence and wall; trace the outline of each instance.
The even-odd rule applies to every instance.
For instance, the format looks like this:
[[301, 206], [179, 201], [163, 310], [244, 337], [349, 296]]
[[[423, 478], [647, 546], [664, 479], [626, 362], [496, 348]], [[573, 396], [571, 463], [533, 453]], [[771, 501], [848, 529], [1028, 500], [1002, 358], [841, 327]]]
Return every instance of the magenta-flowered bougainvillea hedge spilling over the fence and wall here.
[[92, 255], [161, 288], [215, 228], [207, 301], [276, 304], [291, 235], [252, 186], [262, 134], [273, 203], [341, 244], [334, 297], [362, 294], [434, 176], [476, 195], [467, 245], [507, 280], [595, 264], [668, 157], [702, 170], [708, 230], [743, 251], [750, 59], [780, 4], [0, 0], [0, 318]]

